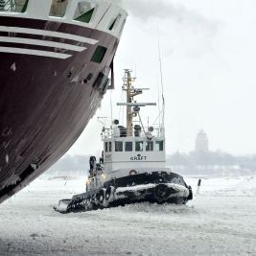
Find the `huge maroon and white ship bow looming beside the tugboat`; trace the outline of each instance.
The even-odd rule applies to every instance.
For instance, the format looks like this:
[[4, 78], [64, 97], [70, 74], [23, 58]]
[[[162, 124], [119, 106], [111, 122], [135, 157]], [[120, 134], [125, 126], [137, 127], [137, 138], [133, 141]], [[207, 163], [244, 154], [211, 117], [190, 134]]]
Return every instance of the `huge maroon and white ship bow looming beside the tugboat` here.
[[70, 149], [114, 87], [111, 0], [0, 0], [0, 203]]

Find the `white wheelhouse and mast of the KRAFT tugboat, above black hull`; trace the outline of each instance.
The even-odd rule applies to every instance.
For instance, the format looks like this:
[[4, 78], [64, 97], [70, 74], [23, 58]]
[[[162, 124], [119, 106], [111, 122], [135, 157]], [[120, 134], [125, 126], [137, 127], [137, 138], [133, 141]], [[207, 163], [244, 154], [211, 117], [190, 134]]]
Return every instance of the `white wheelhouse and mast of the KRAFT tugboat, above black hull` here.
[[[111, 128], [104, 128], [105, 175], [118, 178], [129, 173], [142, 174], [166, 171], [165, 130], [163, 123], [144, 126], [141, 109], [155, 103], [136, 103], [134, 98], [143, 93], [143, 88], [132, 85], [130, 70], [126, 70], [123, 90], [127, 92], [127, 125], [120, 126], [115, 120]], [[147, 88], [148, 89], [148, 88]], [[143, 109], [142, 109], [143, 111]], [[159, 123], [159, 122], [158, 122]]]

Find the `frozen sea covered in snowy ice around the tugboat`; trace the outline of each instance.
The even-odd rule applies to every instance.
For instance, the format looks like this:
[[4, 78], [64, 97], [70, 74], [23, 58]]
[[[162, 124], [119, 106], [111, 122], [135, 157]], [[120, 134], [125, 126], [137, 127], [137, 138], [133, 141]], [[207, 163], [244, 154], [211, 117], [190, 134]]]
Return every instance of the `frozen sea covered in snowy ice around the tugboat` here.
[[41, 176], [1, 204], [0, 255], [256, 255], [256, 176], [203, 178], [187, 205], [54, 211], [83, 190], [83, 177]]

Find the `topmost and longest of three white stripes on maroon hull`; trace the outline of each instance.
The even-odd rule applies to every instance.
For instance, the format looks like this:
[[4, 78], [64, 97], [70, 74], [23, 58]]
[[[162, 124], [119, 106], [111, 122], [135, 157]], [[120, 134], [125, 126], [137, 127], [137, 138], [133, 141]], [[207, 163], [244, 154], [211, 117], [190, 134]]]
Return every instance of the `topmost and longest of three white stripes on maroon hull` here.
[[62, 39], [69, 39], [69, 40], [73, 40], [73, 41], [84, 42], [84, 43], [88, 43], [88, 44], [98, 43], [98, 40], [95, 40], [92, 38], [87, 38], [87, 37], [80, 36], [80, 35], [72, 35], [72, 34], [66, 34], [66, 33], [62, 33], [62, 32], [35, 30], [35, 29], [27, 29], [27, 28], [19, 28], [19, 27], [0, 26], [0, 32], [45, 35], [45, 36], [52, 36], [52, 37], [58, 37], [58, 38], [62, 38]]

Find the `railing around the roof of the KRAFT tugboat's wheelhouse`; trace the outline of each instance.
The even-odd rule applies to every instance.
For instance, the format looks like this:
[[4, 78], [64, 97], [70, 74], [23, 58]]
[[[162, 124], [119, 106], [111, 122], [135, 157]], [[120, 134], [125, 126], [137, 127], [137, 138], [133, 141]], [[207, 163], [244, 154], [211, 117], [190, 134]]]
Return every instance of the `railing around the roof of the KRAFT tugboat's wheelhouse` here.
[[162, 138], [165, 136], [165, 129], [162, 126], [149, 127], [141, 130], [134, 128], [104, 128], [102, 133], [103, 139], [111, 139], [113, 137], [140, 137], [140, 138]]

